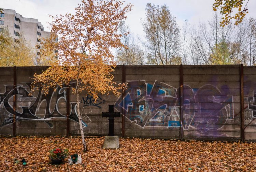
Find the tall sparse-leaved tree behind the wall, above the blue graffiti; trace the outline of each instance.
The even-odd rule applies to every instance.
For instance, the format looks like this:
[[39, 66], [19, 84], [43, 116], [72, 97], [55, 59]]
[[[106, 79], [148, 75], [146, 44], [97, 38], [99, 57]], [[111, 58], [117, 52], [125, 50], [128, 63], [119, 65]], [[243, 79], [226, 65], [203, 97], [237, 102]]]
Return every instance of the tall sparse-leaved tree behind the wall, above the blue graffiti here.
[[[148, 3], [146, 18], [142, 21], [142, 26], [146, 38], [144, 45], [152, 64], [174, 65], [181, 61], [178, 55], [180, 28], [166, 5], [159, 7]], [[177, 59], [180, 60], [177, 61]]]

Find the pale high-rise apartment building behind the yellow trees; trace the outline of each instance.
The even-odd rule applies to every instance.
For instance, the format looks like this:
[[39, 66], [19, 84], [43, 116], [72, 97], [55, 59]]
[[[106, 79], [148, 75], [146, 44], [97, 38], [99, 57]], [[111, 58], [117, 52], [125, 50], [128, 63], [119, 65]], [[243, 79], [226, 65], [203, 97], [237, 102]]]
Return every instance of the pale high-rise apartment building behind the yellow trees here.
[[[30, 46], [36, 48], [39, 52], [41, 38], [46, 38], [51, 35], [51, 32], [44, 31], [44, 26], [38, 19], [26, 18], [16, 13], [15, 10], [3, 9], [0, 13], [0, 28], [8, 27], [14, 39], [18, 39], [23, 33], [26, 40], [30, 41]], [[37, 53], [38, 54], [38, 53]]]

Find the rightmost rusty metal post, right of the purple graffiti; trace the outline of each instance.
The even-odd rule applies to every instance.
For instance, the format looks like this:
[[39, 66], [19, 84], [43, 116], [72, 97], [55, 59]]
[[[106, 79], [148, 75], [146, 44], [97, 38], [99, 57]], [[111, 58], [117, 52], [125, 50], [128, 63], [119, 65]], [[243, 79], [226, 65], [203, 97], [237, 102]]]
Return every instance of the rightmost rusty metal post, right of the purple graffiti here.
[[240, 102], [241, 102], [241, 140], [244, 142], [244, 70], [240, 65]]

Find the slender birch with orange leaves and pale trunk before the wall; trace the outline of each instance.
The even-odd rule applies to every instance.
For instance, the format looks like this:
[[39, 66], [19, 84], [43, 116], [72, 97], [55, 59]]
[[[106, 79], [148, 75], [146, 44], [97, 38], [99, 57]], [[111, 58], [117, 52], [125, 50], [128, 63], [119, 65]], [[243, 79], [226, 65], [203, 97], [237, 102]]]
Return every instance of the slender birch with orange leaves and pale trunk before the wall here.
[[46, 38], [45, 48], [58, 50], [58, 61], [42, 74], [34, 75], [32, 87], [44, 83], [42, 90], [47, 94], [49, 88], [69, 85], [75, 82], [73, 93], [76, 95], [76, 112], [79, 118], [83, 148], [86, 151], [84, 132], [79, 108], [79, 95], [86, 91], [95, 100], [98, 94], [113, 92], [119, 95], [113, 82], [115, 63], [111, 49], [123, 46], [118, 34], [118, 24], [126, 19], [132, 5], [124, 5], [119, 0], [82, 0], [75, 8], [74, 15], [52, 16], [50, 23], [56, 35]]

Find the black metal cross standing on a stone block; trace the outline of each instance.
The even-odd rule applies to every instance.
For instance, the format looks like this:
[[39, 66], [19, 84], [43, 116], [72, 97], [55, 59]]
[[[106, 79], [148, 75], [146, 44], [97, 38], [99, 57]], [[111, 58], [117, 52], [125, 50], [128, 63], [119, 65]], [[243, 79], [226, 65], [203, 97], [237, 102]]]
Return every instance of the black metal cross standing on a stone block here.
[[114, 117], [120, 117], [120, 112], [114, 112], [114, 105], [109, 105], [109, 112], [102, 112], [102, 117], [109, 118], [109, 136], [115, 136]]

